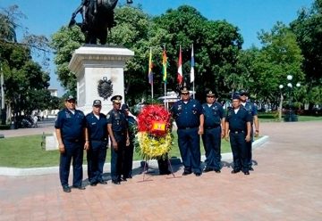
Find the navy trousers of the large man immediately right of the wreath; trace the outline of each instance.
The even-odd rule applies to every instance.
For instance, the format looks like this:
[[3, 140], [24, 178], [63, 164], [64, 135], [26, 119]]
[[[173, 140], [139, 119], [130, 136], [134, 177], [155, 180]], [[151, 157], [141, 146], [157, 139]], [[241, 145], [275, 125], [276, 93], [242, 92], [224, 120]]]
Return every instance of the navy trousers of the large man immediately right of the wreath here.
[[200, 137], [198, 127], [177, 130], [178, 145], [182, 156], [184, 171], [201, 173]]

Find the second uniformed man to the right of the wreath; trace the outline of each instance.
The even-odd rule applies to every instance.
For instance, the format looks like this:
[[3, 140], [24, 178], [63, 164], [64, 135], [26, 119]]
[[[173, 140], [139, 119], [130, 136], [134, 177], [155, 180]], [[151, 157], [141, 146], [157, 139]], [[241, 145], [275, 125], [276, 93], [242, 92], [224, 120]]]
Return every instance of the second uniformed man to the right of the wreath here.
[[205, 103], [202, 104], [205, 118], [204, 134], [202, 141], [206, 152], [206, 168], [204, 172], [215, 171], [220, 173], [221, 169], [221, 138], [224, 138], [225, 118], [223, 106], [216, 102], [216, 96], [208, 90]]

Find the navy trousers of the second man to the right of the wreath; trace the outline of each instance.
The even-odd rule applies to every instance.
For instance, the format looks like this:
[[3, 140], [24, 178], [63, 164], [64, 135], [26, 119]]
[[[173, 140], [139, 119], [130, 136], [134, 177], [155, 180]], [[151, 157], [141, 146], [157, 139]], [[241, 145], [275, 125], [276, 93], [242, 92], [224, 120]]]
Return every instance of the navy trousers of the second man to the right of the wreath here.
[[206, 153], [206, 167], [216, 170], [220, 170], [221, 161], [221, 127], [215, 127], [207, 129], [205, 128], [202, 135], [202, 141], [205, 147]]

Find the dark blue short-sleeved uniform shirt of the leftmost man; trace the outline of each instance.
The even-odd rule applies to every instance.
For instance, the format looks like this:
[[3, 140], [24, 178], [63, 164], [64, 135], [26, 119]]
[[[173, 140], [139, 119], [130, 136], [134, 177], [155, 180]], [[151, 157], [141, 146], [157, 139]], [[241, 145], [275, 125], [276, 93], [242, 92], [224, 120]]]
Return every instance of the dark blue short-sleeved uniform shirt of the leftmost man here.
[[74, 140], [83, 138], [83, 128], [86, 127], [85, 115], [82, 111], [75, 110], [72, 114], [68, 109], [58, 112], [55, 120], [55, 128], [61, 129], [63, 140]]

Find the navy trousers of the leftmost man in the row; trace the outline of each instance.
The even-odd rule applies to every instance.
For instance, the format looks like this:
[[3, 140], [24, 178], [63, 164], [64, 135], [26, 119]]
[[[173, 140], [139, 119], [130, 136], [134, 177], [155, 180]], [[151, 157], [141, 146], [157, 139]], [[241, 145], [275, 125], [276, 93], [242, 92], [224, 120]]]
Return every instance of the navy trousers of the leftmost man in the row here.
[[82, 141], [63, 140], [65, 151], [60, 154], [59, 177], [63, 186], [68, 185], [68, 176], [72, 162], [72, 185], [79, 187], [82, 181], [82, 160], [84, 143]]

